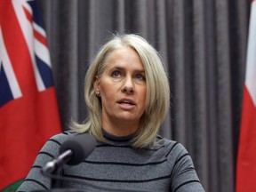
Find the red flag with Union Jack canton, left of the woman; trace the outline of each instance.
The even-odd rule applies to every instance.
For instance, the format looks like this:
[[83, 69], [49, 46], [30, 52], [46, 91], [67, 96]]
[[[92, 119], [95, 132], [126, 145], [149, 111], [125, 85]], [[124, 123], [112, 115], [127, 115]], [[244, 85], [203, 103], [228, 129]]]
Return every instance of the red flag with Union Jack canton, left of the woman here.
[[0, 190], [7, 191], [26, 177], [44, 142], [61, 132], [36, 1], [0, 0], [0, 131]]

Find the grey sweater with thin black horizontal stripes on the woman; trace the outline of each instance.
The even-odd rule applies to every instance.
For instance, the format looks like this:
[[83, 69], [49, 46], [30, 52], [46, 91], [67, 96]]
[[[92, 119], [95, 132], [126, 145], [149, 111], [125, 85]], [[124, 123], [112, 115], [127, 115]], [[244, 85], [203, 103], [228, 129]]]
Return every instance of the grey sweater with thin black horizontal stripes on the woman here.
[[[41, 169], [59, 155], [61, 143], [75, 134], [62, 132], [48, 140], [18, 191], [51, 188], [51, 179], [43, 175]], [[69, 181], [62, 181], [62, 188], [90, 192], [204, 191], [191, 157], [180, 143], [157, 136], [154, 146], [138, 149], [129, 145], [129, 138], [113, 138], [106, 134], [105, 137], [109, 142], [98, 142], [83, 163], [64, 165], [61, 175]]]

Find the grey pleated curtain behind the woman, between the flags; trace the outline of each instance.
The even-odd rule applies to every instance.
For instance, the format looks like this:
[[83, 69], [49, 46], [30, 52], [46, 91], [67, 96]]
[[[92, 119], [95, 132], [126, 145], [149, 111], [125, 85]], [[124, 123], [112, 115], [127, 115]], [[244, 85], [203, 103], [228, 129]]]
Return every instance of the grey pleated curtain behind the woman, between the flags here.
[[172, 91], [160, 134], [192, 156], [208, 192], [235, 190], [249, 0], [41, 0], [63, 130], [83, 122], [84, 76], [113, 34], [143, 36]]

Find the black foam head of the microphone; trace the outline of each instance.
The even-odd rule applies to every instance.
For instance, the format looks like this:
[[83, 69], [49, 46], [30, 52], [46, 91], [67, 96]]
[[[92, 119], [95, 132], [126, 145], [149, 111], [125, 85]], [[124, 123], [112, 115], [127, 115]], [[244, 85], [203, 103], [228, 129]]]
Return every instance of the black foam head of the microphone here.
[[60, 146], [60, 154], [68, 149], [72, 150], [73, 155], [70, 160], [68, 160], [67, 164], [76, 165], [82, 163], [84, 159], [92, 153], [95, 147], [95, 138], [91, 134], [83, 133], [66, 140]]

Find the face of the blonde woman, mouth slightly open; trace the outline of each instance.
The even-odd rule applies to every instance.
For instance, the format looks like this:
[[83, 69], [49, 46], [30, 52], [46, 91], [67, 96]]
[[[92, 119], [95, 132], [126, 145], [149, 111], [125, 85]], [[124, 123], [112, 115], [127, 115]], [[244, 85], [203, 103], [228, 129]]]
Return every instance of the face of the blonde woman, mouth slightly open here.
[[103, 127], [130, 124], [136, 132], [145, 111], [147, 92], [145, 70], [138, 53], [131, 48], [110, 53], [94, 89], [100, 92]]

